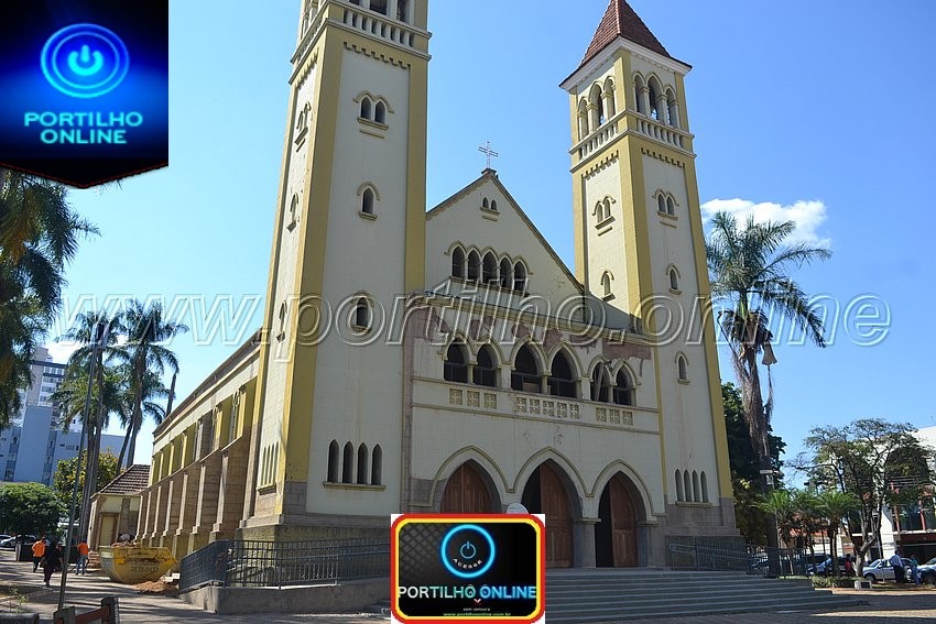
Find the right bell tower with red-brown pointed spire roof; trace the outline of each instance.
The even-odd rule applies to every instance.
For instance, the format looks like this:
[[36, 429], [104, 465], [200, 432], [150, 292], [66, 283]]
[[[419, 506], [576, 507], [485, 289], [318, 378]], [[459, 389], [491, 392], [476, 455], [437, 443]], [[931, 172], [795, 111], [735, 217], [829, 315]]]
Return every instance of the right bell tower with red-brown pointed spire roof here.
[[[690, 69], [625, 0], [610, 1], [581, 63], [562, 84], [570, 103], [575, 270], [590, 293], [638, 317], [655, 342], [666, 532], [731, 535], [731, 474], [685, 103]], [[703, 473], [717, 480], [705, 482]]]

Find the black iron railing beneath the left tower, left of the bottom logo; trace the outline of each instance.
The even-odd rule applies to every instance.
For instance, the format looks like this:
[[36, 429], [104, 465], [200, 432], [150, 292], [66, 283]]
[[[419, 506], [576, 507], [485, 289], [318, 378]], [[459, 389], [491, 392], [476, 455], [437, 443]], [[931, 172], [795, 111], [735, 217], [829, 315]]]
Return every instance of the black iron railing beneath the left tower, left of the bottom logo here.
[[206, 584], [275, 587], [338, 582], [390, 573], [385, 540], [215, 541], [182, 560], [179, 590]]

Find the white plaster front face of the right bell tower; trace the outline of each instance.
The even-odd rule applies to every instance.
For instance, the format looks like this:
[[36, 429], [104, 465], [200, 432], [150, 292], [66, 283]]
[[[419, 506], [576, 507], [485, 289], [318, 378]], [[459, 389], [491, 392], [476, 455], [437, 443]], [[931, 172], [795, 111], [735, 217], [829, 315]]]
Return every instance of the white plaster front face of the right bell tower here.
[[[644, 198], [647, 209], [649, 232], [654, 292], [667, 297], [674, 313], [674, 331], [667, 333], [659, 348], [662, 406], [666, 430], [666, 466], [671, 502], [676, 501], [675, 470], [705, 471], [708, 480], [709, 501], [715, 502], [718, 492], [712, 431], [709, 380], [706, 371], [705, 350], [697, 340], [699, 315], [694, 314], [694, 302], [698, 294], [695, 255], [688, 210], [688, 195], [684, 169], [651, 156], [643, 157], [646, 176]], [[675, 221], [657, 215], [653, 194], [657, 189], [671, 193], [676, 202]], [[675, 223], [672, 227], [671, 223]], [[670, 292], [667, 267], [674, 265], [679, 273], [679, 294]], [[678, 382], [677, 353], [688, 361], [688, 384]], [[718, 374], [714, 371], [714, 374]]]

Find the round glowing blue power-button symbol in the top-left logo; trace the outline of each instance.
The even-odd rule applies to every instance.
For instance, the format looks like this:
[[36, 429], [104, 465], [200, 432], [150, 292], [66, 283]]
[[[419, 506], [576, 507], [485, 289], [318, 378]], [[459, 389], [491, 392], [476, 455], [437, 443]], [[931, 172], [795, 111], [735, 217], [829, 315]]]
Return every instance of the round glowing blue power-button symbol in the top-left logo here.
[[57, 31], [42, 48], [48, 84], [73, 98], [97, 98], [116, 89], [130, 69], [130, 53], [113, 31], [73, 24]]

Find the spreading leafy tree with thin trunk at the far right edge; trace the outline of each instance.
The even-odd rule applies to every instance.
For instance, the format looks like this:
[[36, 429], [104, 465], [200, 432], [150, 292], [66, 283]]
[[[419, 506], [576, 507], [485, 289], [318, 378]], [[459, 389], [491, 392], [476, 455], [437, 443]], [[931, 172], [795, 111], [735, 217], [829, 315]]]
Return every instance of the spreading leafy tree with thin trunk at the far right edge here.
[[933, 450], [924, 448], [914, 431], [906, 423], [860, 418], [844, 427], [816, 427], [804, 440], [813, 463], [834, 471], [842, 491], [858, 502], [858, 517], [847, 524], [859, 576], [881, 537], [884, 508], [917, 502], [932, 482]]

